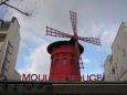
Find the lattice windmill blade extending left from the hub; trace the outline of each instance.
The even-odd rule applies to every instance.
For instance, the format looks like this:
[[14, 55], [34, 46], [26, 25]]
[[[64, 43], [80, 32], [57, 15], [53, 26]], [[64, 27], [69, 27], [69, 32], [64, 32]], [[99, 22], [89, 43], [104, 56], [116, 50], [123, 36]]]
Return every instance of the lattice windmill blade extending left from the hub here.
[[72, 38], [71, 34], [57, 31], [57, 30], [49, 28], [49, 27], [46, 27], [46, 35], [60, 36], [60, 38]]

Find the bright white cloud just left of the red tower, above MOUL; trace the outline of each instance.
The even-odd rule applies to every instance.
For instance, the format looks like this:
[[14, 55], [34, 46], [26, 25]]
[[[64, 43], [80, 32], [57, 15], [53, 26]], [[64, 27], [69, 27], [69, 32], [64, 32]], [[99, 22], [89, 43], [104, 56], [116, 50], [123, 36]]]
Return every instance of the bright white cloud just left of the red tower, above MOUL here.
[[36, 73], [49, 74], [50, 71], [50, 55], [46, 52], [49, 43], [43, 41], [41, 45], [35, 48], [30, 56], [27, 56], [25, 67], [20, 68], [20, 73]]

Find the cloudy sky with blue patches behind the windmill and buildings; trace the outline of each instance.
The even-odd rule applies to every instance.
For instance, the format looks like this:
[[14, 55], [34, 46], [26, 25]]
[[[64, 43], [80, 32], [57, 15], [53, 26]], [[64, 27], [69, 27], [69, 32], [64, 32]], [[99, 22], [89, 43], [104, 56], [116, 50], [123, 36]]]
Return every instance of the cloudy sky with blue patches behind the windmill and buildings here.
[[[23, 0], [24, 1], [24, 0]], [[31, 3], [35, 0], [31, 0]], [[4, 19], [17, 17], [20, 23], [21, 42], [15, 70], [22, 73], [49, 74], [49, 44], [55, 41], [70, 40], [45, 35], [46, 27], [73, 34], [70, 11], [77, 12], [77, 34], [86, 38], [99, 38], [102, 45], [80, 41], [84, 46], [81, 55], [84, 63], [82, 74], [103, 74], [104, 63], [121, 22], [127, 22], [127, 0], [36, 0], [28, 8], [31, 17], [14, 10], [8, 10]], [[25, 0], [24, 3], [29, 3]], [[22, 4], [22, 10], [27, 10]], [[28, 7], [28, 6], [27, 6]], [[24, 8], [24, 9], [23, 9]], [[3, 17], [2, 17], [3, 18]]]

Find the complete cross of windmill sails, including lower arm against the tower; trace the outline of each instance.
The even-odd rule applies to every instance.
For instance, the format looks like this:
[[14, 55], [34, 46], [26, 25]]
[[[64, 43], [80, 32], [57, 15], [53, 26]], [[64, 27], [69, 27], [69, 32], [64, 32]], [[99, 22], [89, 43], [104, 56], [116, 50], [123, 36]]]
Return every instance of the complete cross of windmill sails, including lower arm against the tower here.
[[75, 49], [75, 64], [80, 63], [80, 41], [84, 41], [87, 43], [100, 45], [100, 41], [97, 38], [83, 38], [77, 35], [77, 13], [74, 11], [70, 11], [71, 23], [73, 29], [73, 35], [61, 32], [56, 29], [46, 27], [46, 35], [51, 36], [60, 36], [60, 38], [72, 38], [74, 40], [74, 49]]

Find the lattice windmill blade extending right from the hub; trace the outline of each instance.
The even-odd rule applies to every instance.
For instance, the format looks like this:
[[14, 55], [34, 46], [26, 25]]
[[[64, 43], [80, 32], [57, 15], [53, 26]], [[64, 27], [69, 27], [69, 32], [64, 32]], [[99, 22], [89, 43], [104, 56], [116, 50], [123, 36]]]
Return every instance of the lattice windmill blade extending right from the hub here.
[[78, 36], [77, 39], [82, 40], [82, 41], [85, 41], [87, 43], [100, 45], [100, 40], [98, 38], [82, 38], [82, 36]]

